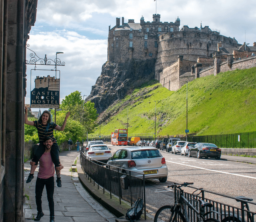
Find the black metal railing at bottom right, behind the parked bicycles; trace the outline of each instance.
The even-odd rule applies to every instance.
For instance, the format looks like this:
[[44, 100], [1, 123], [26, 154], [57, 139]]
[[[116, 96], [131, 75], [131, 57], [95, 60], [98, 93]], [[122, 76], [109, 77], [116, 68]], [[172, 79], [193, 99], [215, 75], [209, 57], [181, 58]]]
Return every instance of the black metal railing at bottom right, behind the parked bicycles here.
[[[192, 186], [187, 186], [187, 187], [191, 188], [193, 191], [198, 189], [198, 188], [192, 187]], [[202, 191], [202, 193], [198, 197], [196, 197], [196, 199], [202, 199], [204, 201], [210, 202], [213, 205], [213, 207], [211, 207], [211, 208], [205, 207], [205, 213], [207, 213], [209, 211], [215, 211], [214, 213], [209, 213], [206, 216], [206, 218], [215, 218], [221, 222], [229, 222], [229, 221], [230, 222], [231, 221], [233, 221], [233, 222], [254, 222], [254, 221], [256, 221], [256, 213], [255, 213], [256, 203], [251, 202], [251, 201], [237, 199], [234, 197], [230, 197], [230, 196], [215, 193], [215, 192], [211, 192], [208, 190], [204, 190], [203, 188], [200, 188], [199, 191]], [[179, 199], [180, 193], [181, 193], [181, 191], [175, 187], [174, 188], [175, 202]], [[188, 192], [184, 191], [183, 195], [188, 201], [193, 200], [192, 192], [188, 193]], [[226, 199], [225, 202], [229, 202], [230, 204], [233, 204], [233, 205], [235, 205], [235, 203], [237, 203], [237, 206], [231, 206], [230, 204], [224, 204], [224, 203], [218, 202], [216, 200], [209, 199], [209, 196], [214, 197], [214, 199], [220, 199], [220, 198], [224, 199], [225, 198]], [[239, 202], [236, 202], [236, 200], [239, 200]], [[247, 204], [247, 206], [249, 206], [249, 208], [251, 208], [250, 211], [247, 210], [247, 208], [245, 208], [246, 204]], [[195, 206], [195, 208], [196, 208], [196, 210], [199, 211], [198, 204]], [[190, 222], [196, 222], [197, 221], [196, 213], [194, 211], [192, 211], [190, 208], [188, 208], [188, 206], [187, 206], [187, 212], [188, 212], [188, 216], [190, 218], [189, 219]], [[238, 218], [238, 220], [236, 219], [236, 217]]]

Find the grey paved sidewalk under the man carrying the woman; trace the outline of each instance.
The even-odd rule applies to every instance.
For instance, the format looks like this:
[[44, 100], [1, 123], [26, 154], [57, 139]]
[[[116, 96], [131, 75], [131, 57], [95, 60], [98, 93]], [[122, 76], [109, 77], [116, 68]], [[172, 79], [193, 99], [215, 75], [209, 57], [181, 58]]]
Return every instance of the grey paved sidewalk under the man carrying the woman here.
[[[92, 221], [92, 222], [114, 222], [115, 216], [95, 201], [82, 187], [78, 174], [69, 171], [78, 153], [76, 151], [63, 151], [60, 153], [60, 162], [64, 166], [61, 170], [62, 187], [56, 185], [54, 189], [54, 205], [55, 205], [55, 221]], [[25, 202], [23, 209], [25, 212], [25, 221], [33, 221], [37, 215], [35, 202], [35, 184], [38, 168], [34, 173], [34, 179], [30, 183], [26, 183], [30, 172], [30, 160], [24, 164], [24, 194]], [[43, 191], [42, 208], [44, 216], [40, 221], [49, 221], [50, 211], [47, 201], [46, 189]]]

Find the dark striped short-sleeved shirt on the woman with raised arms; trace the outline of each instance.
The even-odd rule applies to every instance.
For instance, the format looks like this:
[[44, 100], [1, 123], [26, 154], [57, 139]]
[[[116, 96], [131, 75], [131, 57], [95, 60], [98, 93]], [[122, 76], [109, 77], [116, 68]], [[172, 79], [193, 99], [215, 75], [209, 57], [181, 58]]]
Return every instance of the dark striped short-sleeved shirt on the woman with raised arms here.
[[55, 129], [56, 126], [58, 126], [56, 123], [51, 122], [47, 125], [43, 125], [42, 122], [38, 120], [33, 122], [35, 124], [35, 127], [37, 128], [37, 133], [38, 133], [40, 143], [44, 142], [44, 138], [47, 136], [52, 138], [52, 142], [57, 143], [57, 140], [53, 136], [53, 130]]

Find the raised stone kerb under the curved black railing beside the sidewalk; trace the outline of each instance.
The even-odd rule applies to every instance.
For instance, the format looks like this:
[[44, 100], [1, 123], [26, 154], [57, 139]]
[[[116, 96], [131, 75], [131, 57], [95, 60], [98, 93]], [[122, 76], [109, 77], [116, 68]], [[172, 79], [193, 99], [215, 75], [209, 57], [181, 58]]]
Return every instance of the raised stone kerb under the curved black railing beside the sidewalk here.
[[[103, 194], [102, 190], [98, 190], [97, 185], [93, 185], [93, 182], [90, 182], [88, 180], [88, 177], [85, 177], [84, 172], [80, 165], [80, 158], [77, 159], [77, 173], [78, 178], [83, 185], [83, 187], [86, 189], [86, 191], [97, 201], [99, 202], [103, 207], [105, 207], [110, 213], [114, 214], [116, 217], [122, 217], [117, 218], [116, 222], [128, 222], [129, 220], [123, 218], [123, 216], [126, 214], [127, 210], [131, 207], [130, 205], [121, 202], [119, 203], [119, 199], [114, 197], [112, 195], [112, 198], [110, 199], [110, 194], [105, 192]], [[147, 220], [144, 220], [144, 217], [141, 215], [141, 221], [145, 222], [153, 222], [151, 218], [147, 216]]]

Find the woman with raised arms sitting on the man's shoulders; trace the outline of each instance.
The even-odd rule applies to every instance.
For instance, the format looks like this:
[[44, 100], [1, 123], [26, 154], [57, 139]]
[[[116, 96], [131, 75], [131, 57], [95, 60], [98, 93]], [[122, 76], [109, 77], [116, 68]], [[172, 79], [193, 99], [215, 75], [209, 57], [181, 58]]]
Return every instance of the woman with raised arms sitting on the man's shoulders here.
[[47, 110], [45, 110], [42, 113], [42, 115], [39, 117], [38, 120], [28, 121], [28, 108], [25, 107], [24, 122], [27, 125], [35, 126], [37, 128], [38, 137], [39, 137], [39, 146], [37, 147], [34, 157], [32, 159], [32, 161], [35, 162], [35, 165], [33, 166], [31, 165], [30, 174], [28, 176], [26, 183], [31, 182], [31, 180], [34, 178], [34, 172], [38, 165], [38, 161], [45, 152], [44, 139], [46, 137], [51, 137], [53, 144], [52, 144], [50, 154], [51, 154], [52, 162], [54, 163], [55, 171], [57, 175], [57, 180], [56, 180], [57, 186], [61, 187], [60, 172], [58, 172], [58, 170], [56, 169], [56, 167], [59, 167], [59, 164], [60, 164], [60, 158], [59, 158], [60, 148], [57, 144], [57, 140], [53, 136], [53, 130], [55, 129], [55, 130], [63, 131], [65, 129], [69, 114], [70, 112], [66, 114], [65, 120], [62, 126], [60, 127], [56, 123], [53, 123], [51, 121], [51, 113]]

